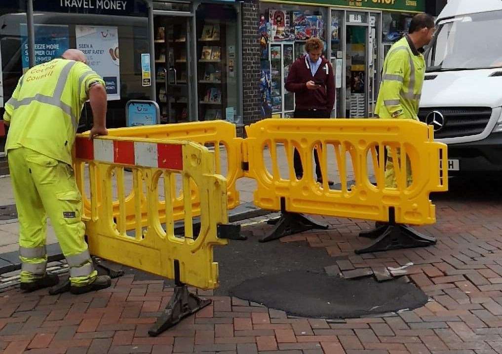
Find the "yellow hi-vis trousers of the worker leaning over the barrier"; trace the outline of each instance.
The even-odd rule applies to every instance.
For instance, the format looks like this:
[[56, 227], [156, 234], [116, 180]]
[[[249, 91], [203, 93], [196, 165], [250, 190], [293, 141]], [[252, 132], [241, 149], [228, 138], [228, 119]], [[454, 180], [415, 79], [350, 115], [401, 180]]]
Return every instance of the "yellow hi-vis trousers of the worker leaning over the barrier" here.
[[24, 147], [10, 150], [7, 156], [19, 217], [21, 282], [35, 281], [46, 273], [48, 215], [70, 267], [71, 284], [92, 283], [97, 272], [84, 241], [82, 198], [71, 166]]

